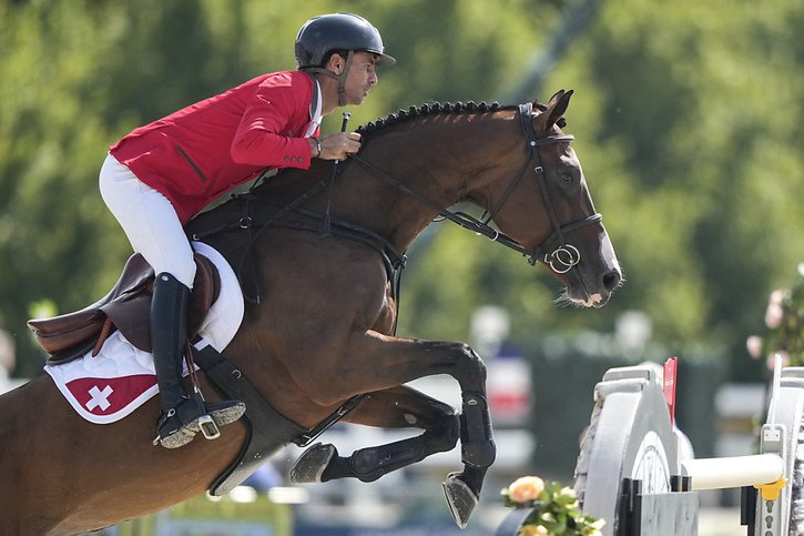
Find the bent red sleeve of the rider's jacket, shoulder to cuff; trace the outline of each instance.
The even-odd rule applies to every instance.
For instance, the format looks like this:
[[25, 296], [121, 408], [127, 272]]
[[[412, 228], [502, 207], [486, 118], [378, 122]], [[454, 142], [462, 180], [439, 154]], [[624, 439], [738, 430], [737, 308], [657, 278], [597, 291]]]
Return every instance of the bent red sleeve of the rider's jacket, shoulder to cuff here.
[[234, 162], [268, 168], [309, 168], [309, 142], [294, 132], [309, 120], [309, 98], [304, 99], [305, 91], [297, 94], [299, 89], [259, 85], [246, 103], [232, 141]]

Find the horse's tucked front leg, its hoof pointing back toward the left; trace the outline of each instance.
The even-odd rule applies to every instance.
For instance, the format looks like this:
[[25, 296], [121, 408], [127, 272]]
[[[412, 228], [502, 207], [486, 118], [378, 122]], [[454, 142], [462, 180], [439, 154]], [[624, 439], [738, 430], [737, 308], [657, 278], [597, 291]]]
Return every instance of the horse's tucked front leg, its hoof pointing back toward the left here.
[[451, 451], [459, 436], [459, 419], [451, 406], [405, 386], [372, 393], [344, 421], [383, 428], [418, 427], [425, 432], [386, 445], [360, 448], [350, 456], [339, 456], [335, 445], [317, 443], [296, 461], [291, 482], [336, 478], [374, 482], [431, 454]]

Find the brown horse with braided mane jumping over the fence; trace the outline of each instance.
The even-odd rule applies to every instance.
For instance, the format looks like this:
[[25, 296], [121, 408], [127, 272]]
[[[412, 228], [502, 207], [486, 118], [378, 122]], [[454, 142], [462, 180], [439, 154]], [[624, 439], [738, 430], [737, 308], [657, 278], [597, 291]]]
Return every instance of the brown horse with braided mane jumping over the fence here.
[[[620, 270], [572, 136], [560, 128], [570, 97], [560, 91], [536, 109], [469, 103], [399, 112], [363, 128], [360, 153], [336, 170], [316, 161], [308, 172], [282, 172], [191, 222], [192, 233], [237, 267], [244, 293], [259, 297], [224, 355], [276, 412], [306, 431], [353, 401], [345, 422], [424, 431], [343, 457], [316, 444], [292, 479], [374, 481], [460, 441], [464, 468], [447, 477], [445, 493], [466, 526], [496, 452], [486, 371], [464, 343], [395, 336], [393, 275], [441, 214], [545, 264], [569, 301], [605, 304]], [[488, 216], [445, 209], [461, 201]], [[459, 383], [459, 414], [405, 386], [434, 374]], [[214, 395], [208, 377], [200, 382]], [[246, 439], [248, 428], [237, 423], [216, 441], [153, 446], [157, 413], [152, 400], [118, 423], [90, 424], [47, 376], [2, 395], [0, 527], [74, 534], [159, 510], [210, 489]]]

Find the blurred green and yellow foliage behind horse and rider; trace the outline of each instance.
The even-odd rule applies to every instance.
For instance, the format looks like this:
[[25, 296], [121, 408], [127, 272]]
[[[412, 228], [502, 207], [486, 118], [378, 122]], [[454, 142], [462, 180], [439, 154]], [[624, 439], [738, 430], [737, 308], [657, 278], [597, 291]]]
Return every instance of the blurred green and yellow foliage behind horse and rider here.
[[26, 320], [93, 302], [129, 255], [98, 193], [108, 146], [293, 69], [299, 26], [332, 11], [368, 18], [398, 60], [350, 110], [354, 127], [411, 104], [543, 102], [574, 89], [567, 130], [627, 277], [604, 310], [559, 307], [545, 270], [434, 224], [410, 252], [401, 335], [468, 340], [472, 312], [492, 304], [510, 313], [525, 354], [586, 344], [617, 362], [625, 350], [607, 334], [640, 312], [649, 344], [631, 358], [679, 355], [761, 378], [745, 338], [763, 331], [769, 293], [792, 284], [804, 254], [795, 0], [1, 2], [0, 328], [16, 346], [12, 375], [42, 364]]

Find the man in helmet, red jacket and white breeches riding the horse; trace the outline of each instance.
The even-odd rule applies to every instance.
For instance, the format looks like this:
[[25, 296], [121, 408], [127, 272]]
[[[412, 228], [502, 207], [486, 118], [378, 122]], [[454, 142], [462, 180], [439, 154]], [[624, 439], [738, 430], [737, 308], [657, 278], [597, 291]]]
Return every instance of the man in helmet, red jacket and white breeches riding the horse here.
[[337, 107], [360, 104], [377, 83], [375, 67], [396, 61], [384, 53], [377, 29], [352, 13], [308, 20], [296, 36], [295, 55], [297, 71], [263, 74], [134, 130], [111, 146], [101, 169], [103, 201], [157, 274], [151, 338], [162, 409], [156, 439], [166, 448], [191, 442], [210, 417], [223, 426], [245, 412], [242, 402], [207, 403], [183, 387], [195, 276], [183, 226], [266, 169], [307, 169], [314, 158], [356, 153], [358, 133], [318, 139], [320, 119]]

